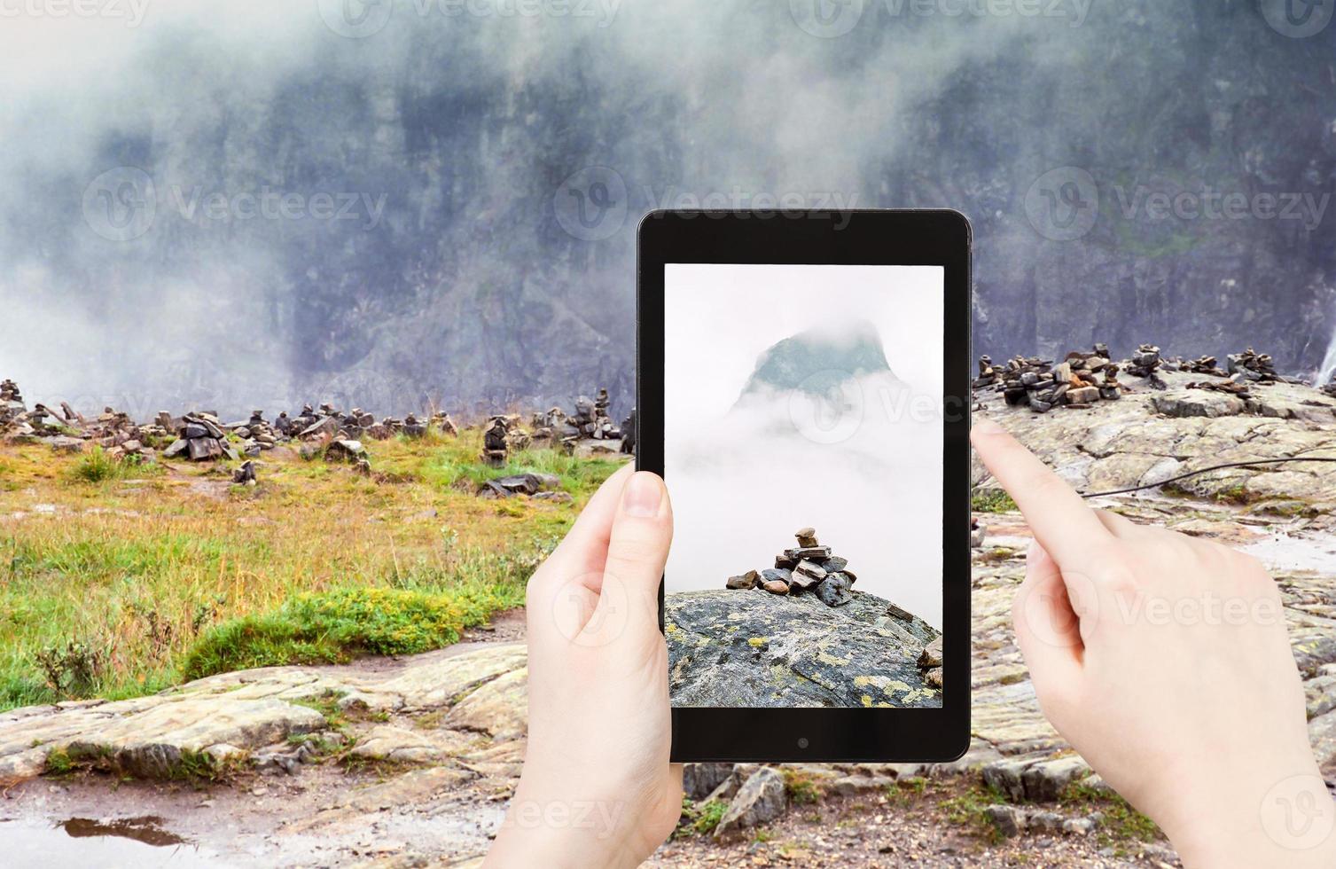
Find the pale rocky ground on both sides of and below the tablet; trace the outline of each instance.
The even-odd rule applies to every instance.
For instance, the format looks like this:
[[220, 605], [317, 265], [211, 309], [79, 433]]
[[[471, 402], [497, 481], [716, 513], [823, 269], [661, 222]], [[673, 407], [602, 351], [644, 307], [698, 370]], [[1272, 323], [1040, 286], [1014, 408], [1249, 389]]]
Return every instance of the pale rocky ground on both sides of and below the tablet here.
[[[1118, 401], [1045, 414], [981, 392], [977, 413], [1083, 491], [1336, 456], [1336, 401], [1316, 390], [1255, 385], [1250, 401], [1230, 401], [1186, 386], [1200, 376], [1161, 377], [1166, 389], [1124, 376], [1132, 392]], [[975, 483], [987, 532], [974, 552], [970, 753], [946, 766], [692, 767], [695, 799], [652, 865], [1176, 865], [1039, 714], [1009, 615], [1030, 533], [979, 468]], [[1098, 504], [1269, 566], [1312, 742], [1336, 771], [1336, 465], [1229, 469]], [[56, 853], [81, 833], [79, 853], [92, 858], [131, 830], [146, 853], [178, 862], [472, 865], [524, 750], [521, 636], [513, 620], [496, 634], [394, 662], [228, 674], [0, 715], [0, 830], [20, 856]]]

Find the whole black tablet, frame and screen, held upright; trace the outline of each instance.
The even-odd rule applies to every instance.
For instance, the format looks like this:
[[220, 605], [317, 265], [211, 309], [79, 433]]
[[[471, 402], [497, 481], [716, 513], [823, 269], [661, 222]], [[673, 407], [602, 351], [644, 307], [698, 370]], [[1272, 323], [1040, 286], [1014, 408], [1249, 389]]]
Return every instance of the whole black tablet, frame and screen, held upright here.
[[673, 761], [963, 754], [967, 221], [656, 211], [637, 306]]

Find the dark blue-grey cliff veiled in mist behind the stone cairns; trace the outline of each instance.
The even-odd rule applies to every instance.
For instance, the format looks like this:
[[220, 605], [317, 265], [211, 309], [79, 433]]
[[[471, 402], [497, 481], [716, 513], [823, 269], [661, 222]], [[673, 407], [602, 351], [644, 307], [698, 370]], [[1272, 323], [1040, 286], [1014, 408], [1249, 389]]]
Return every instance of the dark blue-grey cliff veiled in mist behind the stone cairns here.
[[1299, 372], [1336, 326], [1336, 25], [1272, 0], [854, 0], [823, 35], [800, 0], [387, 3], [0, 21], [0, 377], [138, 416], [623, 413], [640, 215], [786, 197], [967, 214], [977, 353]]

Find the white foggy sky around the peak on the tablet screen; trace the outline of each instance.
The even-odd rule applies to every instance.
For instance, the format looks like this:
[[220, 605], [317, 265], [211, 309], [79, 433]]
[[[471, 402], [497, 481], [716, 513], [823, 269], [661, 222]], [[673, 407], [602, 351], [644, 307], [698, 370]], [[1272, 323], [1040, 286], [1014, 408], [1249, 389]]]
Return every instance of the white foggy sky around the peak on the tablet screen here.
[[[858, 588], [942, 623], [943, 273], [935, 266], [668, 265], [664, 476], [676, 533], [668, 591], [723, 588], [814, 525]], [[733, 409], [758, 357], [810, 328], [867, 321], [929, 412], [867, 400], [847, 437], [788, 428], [791, 401]], [[922, 406], [922, 405], [915, 405]], [[774, 428], [770, 429], [774, 432]]]

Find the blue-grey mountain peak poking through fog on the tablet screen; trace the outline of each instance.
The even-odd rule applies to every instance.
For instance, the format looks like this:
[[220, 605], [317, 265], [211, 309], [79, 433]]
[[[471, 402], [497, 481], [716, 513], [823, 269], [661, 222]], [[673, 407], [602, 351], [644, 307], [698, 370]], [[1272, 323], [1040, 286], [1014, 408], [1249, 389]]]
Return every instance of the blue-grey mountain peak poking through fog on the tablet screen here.
[[774, 389], [822, 394], [840, 381], [891, 374], [876, 326], [866, 320], [807, 329], [771, 345], [756, 358], [743, 396]]

